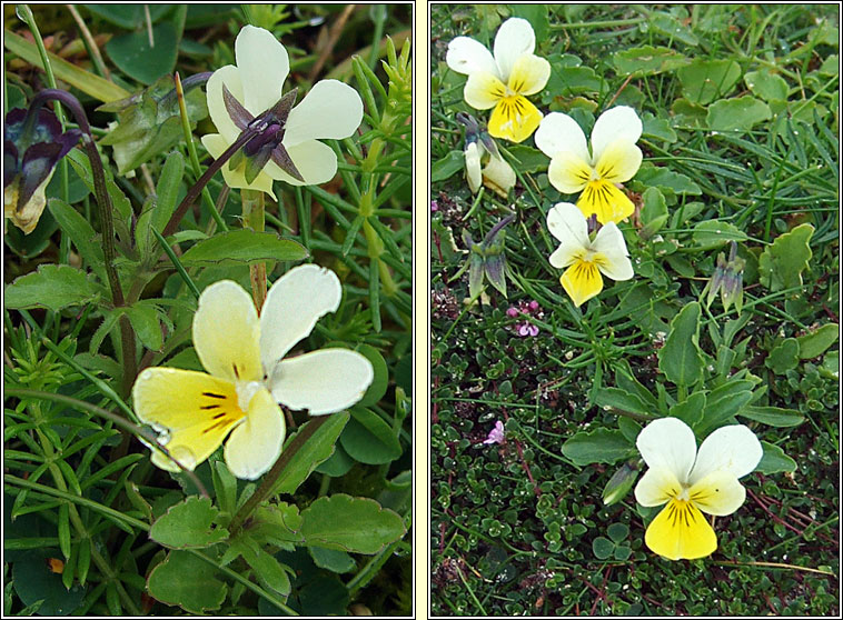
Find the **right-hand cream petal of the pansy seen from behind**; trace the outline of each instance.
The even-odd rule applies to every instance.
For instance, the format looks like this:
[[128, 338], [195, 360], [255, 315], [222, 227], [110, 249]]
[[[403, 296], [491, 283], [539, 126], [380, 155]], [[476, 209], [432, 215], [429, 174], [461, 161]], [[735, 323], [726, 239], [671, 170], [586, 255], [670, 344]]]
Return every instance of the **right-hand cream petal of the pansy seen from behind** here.
[[355, 89], [338, 80], [317, 82], [287, 119], [284, 146], [307, 140], [351, 136], [363, 120], [363, 100]]

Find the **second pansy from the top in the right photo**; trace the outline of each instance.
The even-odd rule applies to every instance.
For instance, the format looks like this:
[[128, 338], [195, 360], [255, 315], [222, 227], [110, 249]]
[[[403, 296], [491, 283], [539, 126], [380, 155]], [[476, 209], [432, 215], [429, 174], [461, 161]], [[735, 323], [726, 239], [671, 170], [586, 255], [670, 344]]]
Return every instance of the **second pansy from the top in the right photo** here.
[[617, 184], [632, 179], [642, 161], [635, 146], [642, 123], [635, 110], [617, 106], [603, 112], [592, 130], [592, 149], [577, 122], [562, 112], [542, 119], [536, 147], [551, 158], [547, 177], [563, 193], [583, 192], [577, 207], [601, 223], [628, 218], [635, 206]]

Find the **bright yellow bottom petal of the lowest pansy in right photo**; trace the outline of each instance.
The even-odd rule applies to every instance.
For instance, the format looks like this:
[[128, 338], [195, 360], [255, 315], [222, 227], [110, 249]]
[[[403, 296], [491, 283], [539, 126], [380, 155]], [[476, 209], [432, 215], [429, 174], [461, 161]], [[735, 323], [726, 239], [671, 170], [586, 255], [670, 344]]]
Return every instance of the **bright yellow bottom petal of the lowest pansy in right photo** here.
[[695, 560], [714, 553], [717, 537], [692, 502], [671, 500], [644, 534], [644, 542], [668, 560]]

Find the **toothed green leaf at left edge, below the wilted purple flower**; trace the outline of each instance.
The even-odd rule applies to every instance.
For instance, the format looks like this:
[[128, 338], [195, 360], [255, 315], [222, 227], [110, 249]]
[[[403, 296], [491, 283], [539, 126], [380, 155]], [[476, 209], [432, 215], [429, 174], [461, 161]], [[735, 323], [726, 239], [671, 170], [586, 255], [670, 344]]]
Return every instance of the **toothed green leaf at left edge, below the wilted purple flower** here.
[[67, 264], [42, 264], [6, 287], [7, 308], [61, 310], [99, 301], [100, 289], [78, 269]]

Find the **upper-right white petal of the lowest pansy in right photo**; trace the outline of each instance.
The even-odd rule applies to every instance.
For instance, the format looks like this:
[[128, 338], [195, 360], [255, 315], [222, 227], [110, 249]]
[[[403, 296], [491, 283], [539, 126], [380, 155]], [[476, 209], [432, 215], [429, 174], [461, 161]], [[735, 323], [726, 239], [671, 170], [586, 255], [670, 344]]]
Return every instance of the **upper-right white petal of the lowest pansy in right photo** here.
[[743, 424], [721, 427], [705, 438], [691, 472], [691, 483], [713, 471], [727, 471], [735, 478], [752, 472], [764, 456], [758, 438]]

